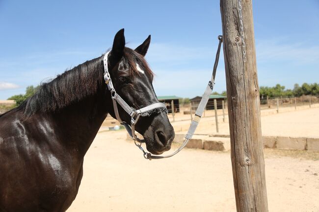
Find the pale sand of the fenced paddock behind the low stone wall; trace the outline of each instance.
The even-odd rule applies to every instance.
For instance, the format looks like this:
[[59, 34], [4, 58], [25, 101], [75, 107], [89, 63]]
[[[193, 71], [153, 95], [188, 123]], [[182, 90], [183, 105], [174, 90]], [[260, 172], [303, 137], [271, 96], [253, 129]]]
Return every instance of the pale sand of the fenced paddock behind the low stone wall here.
[[[289, 112], [285, 112], [289, 111]], [[309, 106], [298, 106], [280, 108], [279, 114], [276, 109], [264, 109], [262, 111], [262, 134], [264, 136], [287, 136], [287, 137], [307, 137], [319, 138], [319, 104]], [[219, 134], [229, 135], [229, 124], [227, 110], [225, 111], [225, 122], [223, 122], [222, 110], [218, 110], [218, 128]], [[190, 115], [177, 113], [175, 121], [169, 114], [169, 119], [177, 133], [186, 133], [190, 124]], [[119, 124], [113, 118], [107, 118], [103, 127]], [[102, 128], [103, 128], [102, 127]], [[216, 123], [214, 111], [206, 111], [206, 117], [201, 121], [196, 129], [196, 134], [218, 134], [216, 132]]]

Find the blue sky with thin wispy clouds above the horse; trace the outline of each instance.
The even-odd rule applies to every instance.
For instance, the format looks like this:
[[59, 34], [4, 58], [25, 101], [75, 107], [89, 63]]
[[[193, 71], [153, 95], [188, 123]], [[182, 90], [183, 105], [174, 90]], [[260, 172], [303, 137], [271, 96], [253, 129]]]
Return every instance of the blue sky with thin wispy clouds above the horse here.
[[[255, 0], [260, 86], [319, 82], [319, 0]], [[147, 60], [158, 95], [202, 95], [211, 77], [219, 0], [0, 0], [0, 99], [22, 94], [111, 47], [125, 28], [128, 47], [151, 34]], [[223, 57], [215, 91], [226, 90]]]

